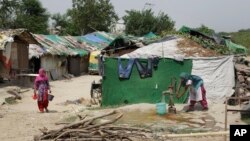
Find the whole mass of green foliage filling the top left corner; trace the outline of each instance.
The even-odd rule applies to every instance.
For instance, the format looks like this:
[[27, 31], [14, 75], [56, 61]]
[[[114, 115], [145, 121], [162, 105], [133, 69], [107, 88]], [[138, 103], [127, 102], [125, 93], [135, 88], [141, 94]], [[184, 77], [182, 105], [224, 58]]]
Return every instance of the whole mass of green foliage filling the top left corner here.
[[47, 33], [49, 14], [39, 0], [0, 0], [0, 28]]

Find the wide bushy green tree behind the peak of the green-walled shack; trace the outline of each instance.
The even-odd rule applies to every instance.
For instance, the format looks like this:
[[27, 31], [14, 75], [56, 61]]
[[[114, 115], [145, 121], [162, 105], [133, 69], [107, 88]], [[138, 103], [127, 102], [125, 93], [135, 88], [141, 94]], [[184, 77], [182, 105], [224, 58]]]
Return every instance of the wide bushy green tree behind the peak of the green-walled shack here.
[[151, 9], [142, 11], [130, 10], [126, 11], [126, 13], [123, 20], [127, 34], [142, 36], [149, 32], [160, 34], [162, 31], [174, 29], [175, 22], [163, 12], [160, 12], [157, 16], [154, 15]]

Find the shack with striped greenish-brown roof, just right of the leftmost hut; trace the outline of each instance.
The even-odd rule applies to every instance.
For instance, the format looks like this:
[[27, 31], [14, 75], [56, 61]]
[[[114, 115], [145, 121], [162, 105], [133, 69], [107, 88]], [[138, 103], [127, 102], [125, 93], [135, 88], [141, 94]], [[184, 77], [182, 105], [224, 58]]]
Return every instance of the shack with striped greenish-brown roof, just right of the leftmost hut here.
[[57, 35], [34, 35], [35, 39], [45, 48], [40, 57], [43, 67], [52, 80], [57, 80], [68, 73], [78, 76], [88, 66], [88, 51], [76, 46], [64, 37]]

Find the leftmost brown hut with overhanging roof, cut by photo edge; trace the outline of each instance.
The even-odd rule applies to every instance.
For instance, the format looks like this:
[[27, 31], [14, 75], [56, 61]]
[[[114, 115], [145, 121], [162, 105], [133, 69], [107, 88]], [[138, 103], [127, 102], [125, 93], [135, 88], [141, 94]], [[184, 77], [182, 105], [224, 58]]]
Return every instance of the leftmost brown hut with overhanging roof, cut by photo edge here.
[[0, 31], [0, 77], [29, 73], [29, 44], [38, 44], [26, 29]]

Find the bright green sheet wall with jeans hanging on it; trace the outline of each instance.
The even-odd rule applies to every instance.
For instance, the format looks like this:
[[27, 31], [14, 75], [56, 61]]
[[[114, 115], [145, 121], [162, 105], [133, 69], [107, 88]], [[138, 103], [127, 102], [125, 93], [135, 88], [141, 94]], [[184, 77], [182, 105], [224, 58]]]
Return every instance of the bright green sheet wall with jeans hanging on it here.
[[[122, 59], [122, 61], [126, 64], [128, 59]], [[192, 60], [177, 62], [172, 59], [161, 59], [152, 77], [141, 79], [134, 65], [130, 78], [120, 80], [117, 58], [105, 58], [102, 105], [158, 103], [161, 101], [162, 91], [167, 90], [170, 85], [171, 78], [179, 78], [181, 72], [191, 73], [191, 69]], [[187, 95], [184, 95], [179, 100], [176, 98], [174, 100], [183, 103], [186, 99]], [[168, 96], [166, 96], [166, 102], [168, 102]]]

